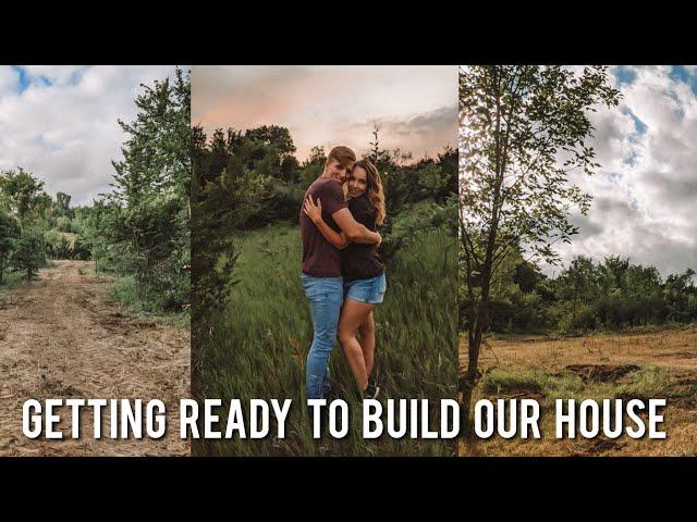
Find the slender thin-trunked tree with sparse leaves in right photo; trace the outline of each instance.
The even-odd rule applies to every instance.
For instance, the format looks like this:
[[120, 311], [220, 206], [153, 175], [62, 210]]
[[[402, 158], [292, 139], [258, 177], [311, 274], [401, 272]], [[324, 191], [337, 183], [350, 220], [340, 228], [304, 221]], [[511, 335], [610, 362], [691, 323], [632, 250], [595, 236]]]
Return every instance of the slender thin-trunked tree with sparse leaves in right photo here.
[[558, 241], [577, 233], [570, 209], [588, 211], [590, 196], [568, 172], [590, 174], [588, 117], [598, 103], [616, 105], [620, 92], [607, 67], [574, 73], [561, 66], [467, 66], [460, 73], [461, 254], [465, 271], [468, 363], [461, 380], [469, 412], [479, 352], [490, 324], [490, 289], [500, 265], [523, 245], [554, 263]]

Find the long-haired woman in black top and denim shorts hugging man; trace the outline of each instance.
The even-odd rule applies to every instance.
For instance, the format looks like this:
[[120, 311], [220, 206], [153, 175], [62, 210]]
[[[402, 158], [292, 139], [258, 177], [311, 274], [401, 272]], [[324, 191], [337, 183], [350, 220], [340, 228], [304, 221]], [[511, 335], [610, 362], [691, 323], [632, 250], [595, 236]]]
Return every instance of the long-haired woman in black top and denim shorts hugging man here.
[[[348, 210], [368, 229], [377, 232], [384, 221], [384, 191], [375, 165], [368, 160], [354, 164], [348, 176]], [[344, 303], [339, 319], [338, 337], [356, 384], [365, 398], [376, 398], [380, 388], [372, 377], [375, 361], [375, 321], [372, 310], [382, 302], [387, 289], [384, 265], [379, 245], [350, 243], [331, 228], [321, 216], [321, 201], [305, 201], [305, 213], [334, 247], [341, 249], [341, 275]], [[356, 338], [360, 333], [360, 343]]]

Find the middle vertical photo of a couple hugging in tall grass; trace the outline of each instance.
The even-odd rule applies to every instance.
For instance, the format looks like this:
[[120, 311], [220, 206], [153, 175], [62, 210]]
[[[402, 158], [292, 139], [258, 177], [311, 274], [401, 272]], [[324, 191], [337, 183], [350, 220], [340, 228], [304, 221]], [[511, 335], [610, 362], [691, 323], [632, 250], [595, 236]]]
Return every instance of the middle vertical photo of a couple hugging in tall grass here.
[[229, 430], [193, 455], [454, 456], [419, 433], [456, 397], [457, 69], [195, 66], [192, 97], [192, 389]]

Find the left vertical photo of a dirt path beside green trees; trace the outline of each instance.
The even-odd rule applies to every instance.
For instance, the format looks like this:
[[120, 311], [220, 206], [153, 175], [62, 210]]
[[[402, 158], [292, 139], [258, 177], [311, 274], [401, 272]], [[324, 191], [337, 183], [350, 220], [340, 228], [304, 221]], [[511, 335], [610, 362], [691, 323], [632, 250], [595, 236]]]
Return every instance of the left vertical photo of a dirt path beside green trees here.
[[0, 456], [191, 453], [189, 74], [0, 66]]

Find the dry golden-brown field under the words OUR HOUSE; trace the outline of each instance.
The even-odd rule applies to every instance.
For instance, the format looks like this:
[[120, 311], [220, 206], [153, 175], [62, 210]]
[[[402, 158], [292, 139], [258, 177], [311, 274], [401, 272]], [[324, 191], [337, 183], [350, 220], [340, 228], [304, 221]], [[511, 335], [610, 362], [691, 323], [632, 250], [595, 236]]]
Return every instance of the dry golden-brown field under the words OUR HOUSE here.
[[[466, 364], [466, 337], [460, 363]], [[540, 402], [539, 440], [462, 442], [462, 456], [696, 456], [697, 325], [585, 337], [490, 336], [482, 347], [474, 400], [534, 398]], [[555, 399], [665, 398], [665, 439], [554, 438]], [[547, 434], [547, 436], [546, 436]]]

